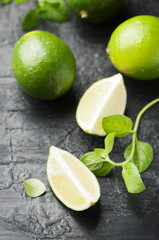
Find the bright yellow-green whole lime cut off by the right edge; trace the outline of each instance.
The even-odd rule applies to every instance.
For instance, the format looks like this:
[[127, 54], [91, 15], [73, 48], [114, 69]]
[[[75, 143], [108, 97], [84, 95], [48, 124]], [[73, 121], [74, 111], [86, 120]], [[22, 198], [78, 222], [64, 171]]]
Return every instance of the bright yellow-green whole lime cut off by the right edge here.
[[136, 16], [120, 24], [106, 49], [114, 66], [135, 79], [159, 78], [159, 18]]

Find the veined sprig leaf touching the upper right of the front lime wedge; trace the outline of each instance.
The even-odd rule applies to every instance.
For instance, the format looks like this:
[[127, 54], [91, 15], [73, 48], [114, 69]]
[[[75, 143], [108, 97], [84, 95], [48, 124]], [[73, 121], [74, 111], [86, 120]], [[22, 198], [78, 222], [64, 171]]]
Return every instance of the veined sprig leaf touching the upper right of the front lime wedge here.
[[80, 160], [96, 176], [100, 176], [100, 177], [106, 176], [114, 167], [109, 162], [106, 162], [105, 159], [100, 158], [95, 152], [86, 153], [81, 157]]

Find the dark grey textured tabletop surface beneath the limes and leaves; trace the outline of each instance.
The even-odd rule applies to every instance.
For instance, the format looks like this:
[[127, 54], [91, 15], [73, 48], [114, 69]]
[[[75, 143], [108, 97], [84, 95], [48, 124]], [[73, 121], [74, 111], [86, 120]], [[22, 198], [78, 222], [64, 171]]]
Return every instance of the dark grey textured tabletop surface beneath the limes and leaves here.
[[[82, 132], [75, 121], [80, 96], [94, 81], [116, 70], [105, 54], [110, 34], [125, 19], [139, 15], [159, 16], [158, 0], [126, 0], [120, 14], [108, 24], [94, 26], [72, 17], [67, 23], [40, 21], [38, 29], [62, 38], [77, 60], [72, 89], [59, 100], [40, 102], [26, 96], [12, 75], [10, 58], [14, 43], [24, 34], [22, 16], [33, 2], [0, 6], [0, 239], [159, 239], [159, 106], [142, 118], [139, 138], [154, 148], [151, 167], [142, 174], [146, 191], [128, 194], [121, 169], [99, 178], [101, 198], [85, 212], [73, 212], [52, 193], [46, 176], [50, 145], [80, 157], [103, 138]], [[126, 114], [133, 120], [139, 110], [158, 97], [159, 79], [152, 82], [124, 77], [128, 92]], [[114, 160], [122, 160], [129, 138], [118, 140]], [[40, 198], [25, 195], [20, 174], [40, 178], [47, 192]]]

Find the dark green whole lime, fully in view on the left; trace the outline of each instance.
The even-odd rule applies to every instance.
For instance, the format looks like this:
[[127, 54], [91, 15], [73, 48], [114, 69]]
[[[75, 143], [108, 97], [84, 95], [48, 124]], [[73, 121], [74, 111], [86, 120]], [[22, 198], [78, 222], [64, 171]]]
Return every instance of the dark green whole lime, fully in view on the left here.
[[32, 31], [15, 44], [12, 69], [26, 93], [51, 100], [72, 86], [76, 63], [71, 50], [61, 39], [49, 32]]

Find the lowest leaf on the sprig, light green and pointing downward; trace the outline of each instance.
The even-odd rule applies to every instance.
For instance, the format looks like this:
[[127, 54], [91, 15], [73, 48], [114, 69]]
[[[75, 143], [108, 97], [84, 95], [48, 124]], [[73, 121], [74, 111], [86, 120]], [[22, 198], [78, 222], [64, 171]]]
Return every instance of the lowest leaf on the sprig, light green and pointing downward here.
[[123, 166], [122, 177], [128, 192], [140, 193], [145, 190], [145, 185], [140, 177], [138, 169], [133, 163], [126, 163]]

